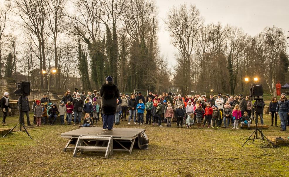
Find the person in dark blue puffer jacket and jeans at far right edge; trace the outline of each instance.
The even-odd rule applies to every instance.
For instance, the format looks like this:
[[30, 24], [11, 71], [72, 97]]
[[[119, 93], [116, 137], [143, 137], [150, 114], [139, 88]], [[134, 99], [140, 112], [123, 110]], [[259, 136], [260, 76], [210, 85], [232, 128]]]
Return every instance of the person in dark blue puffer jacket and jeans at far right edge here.
[[276, 107], [276, 113], [275, 113], [275, 114], [279, 114], [279, 117], [280, 117], [281, 127], [282, 127], [280, 131], [286, 131], [287, 117], [289, 114], [288, 110], [289, 110], [289, 102], [286, 98], [286, 94], [282, 93], [281, 98], [278, 101], [278, 104]]

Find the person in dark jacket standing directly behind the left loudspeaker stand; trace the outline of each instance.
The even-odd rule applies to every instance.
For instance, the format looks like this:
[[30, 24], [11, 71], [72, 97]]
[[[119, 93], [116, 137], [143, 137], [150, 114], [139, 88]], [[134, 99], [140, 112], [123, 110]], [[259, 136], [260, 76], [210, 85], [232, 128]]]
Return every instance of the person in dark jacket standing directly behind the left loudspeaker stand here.
[[32, 126], [32, 125], [30, 124], [30, 118], [29, 118], [30, 106], [29, 106], [28, 97], [27, 97], [27, 96], [23, 96], [23, 95], [22, 95], [22, 96], [19, 96], [17, 105], [18, 105], [18, 110], [19, 110], [19, 112], [20, 112], [21, 122], [23, 122], [23, 124], [25, 125], [25, 122], [24, 122], [24, 114], [26, 114], [27, 125], [28, 125], [28, 126]]

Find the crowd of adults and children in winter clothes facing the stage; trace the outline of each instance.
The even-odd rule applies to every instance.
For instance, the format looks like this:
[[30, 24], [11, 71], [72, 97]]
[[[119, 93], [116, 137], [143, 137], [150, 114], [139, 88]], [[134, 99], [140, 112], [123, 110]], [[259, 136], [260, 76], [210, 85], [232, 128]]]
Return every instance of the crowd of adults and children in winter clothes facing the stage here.
[[[241, 129], [244, 127], [250, 129], [252, 114], [254, 114], [253, 120], [255, 118], [257, 121], [257, 118], [260, 117], [260, 123], [264, 125], [264, 101], [250, 101], [249, 96], [244, 97], [242, 94], [238, 96], [227, 94], [223, 97], [222, 93], [219, 93], [216, 98], [213, 95], [206, 98], [200, 95], [170, 96], [169, 93], [158, 95], [149, 91], [145, 98], [141, 91], [131, 94], [118, 93], [116, 107], [113, 106], [115, 113], [113, 112], [112, 115], [116, 125], [128, 121], [128, 124], [171, 127], [172, 122], [176, 122], [176, 126], [181, 128], [192, 128], [196, 125], [197, 128], [219, 129], [223, 124], [222, 128], [232, 126], [232, 129], [239, 129], [240, 124]], [[114, 101], [112, 100], [112, 102]], [[64, 125], [66, 119], [68, 125], [94, 126], [100, 120], [103, 121], [104, 112], [111, 113], [109, 107], [108, 110], [102, 110], [101, 94], [98, 91], [89, 91], [86, 95], [84, 91], [79, 92], [77, 88], [73, 93], [67, 90], [58, 107], [57, 104], [52, 104], [46, 94], [43, 94], [43, 98], [40, 100], [35, 99], [31, 107], [27, 96], [20, 96], [18, 99], [18, 109], [21, 110], [20, 117], [25, 124], [24, 114], [26, 114], [28, 126], [32, 126], [29, 119], [30, 108], [33, 110], [33, 124], [36, 126], [47, 124], [47, 117], [48, 124], [55, 125], [58, 115], [61, 125]], [[254, 112], [252, 112], [253, 109], [255, 109]], [[1, 98], [1, 110], [3, 112], [2, 125], [7, 125], [6, 117], [8, 112], [11, 112], [9, 93], [7, 92]], [[271, 126], [278, 126], [277, 115], [279, 114], [281, 131], [285, 131], [286, 125], [288, 125], [288, 112], [289, 100], [285, 93], [281, 94], [280, 100], [277, 100], [276, 97], [272, 98], [269, 104]], [[81, 120], [83, 121], [81, 122]]]

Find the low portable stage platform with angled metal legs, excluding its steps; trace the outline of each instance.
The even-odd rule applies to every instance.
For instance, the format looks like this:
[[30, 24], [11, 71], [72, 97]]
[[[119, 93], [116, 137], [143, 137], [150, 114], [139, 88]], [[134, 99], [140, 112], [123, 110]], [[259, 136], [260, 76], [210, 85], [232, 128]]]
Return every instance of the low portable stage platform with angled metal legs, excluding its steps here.
[[[60, 135], [63, 138], [69, 138], [69, 141], [63, 151], [66, 151], [67, 149], [75, 149], [75, 146], [69, 146], [75, 144], [79, 136], [112, 136], [113, 142], [115, 142], [114, 144], [118, 145], [118, 147], [113, 147], [113, 151], [125, 151], [131, 154], [136, 138], [140, 133], [144, 132], [145, 129], [114, 128], [114, 130], [103, 130], [100, 127], [84, 127], [61, 133]], [[97, 144], [99, 144], [99, 142], [97, 142]]]

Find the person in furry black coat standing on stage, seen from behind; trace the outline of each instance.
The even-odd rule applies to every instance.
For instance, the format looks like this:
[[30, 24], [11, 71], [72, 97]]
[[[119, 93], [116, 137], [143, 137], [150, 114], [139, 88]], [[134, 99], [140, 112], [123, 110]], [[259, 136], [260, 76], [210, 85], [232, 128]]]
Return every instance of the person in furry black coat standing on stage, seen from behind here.
[[116, 112], [116, 100], [119, 97], [118, 87], [113, 78], [108, 76], [100, 88], [101, 110], [103, 113], [103, 130], [113, 130], [113, 119]]

